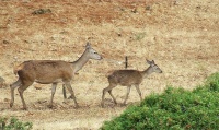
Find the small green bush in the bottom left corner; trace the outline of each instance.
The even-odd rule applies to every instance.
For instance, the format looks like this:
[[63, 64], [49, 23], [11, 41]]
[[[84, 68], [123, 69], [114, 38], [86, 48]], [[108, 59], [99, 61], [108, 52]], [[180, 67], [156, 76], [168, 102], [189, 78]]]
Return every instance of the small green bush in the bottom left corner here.
[[32, 122], [22, 122], [14, 117], [10, 120], [0, 117], [0, 130], [31, 130], [32, 126]]

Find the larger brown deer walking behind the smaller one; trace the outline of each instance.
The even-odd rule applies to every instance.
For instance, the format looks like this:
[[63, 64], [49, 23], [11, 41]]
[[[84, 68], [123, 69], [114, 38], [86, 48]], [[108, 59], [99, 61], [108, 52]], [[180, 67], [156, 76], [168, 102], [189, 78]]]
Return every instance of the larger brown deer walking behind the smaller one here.
[[11, 87], [11, 103], [10, 107], [14, 103], [14, 88], [19, 87], [19, 94], [23, 104], [23, 109], [27, 109], [23, 92], [32, 85], [34, 82], [41, 84], [53, 84], [51, 98], [48, 105], [53, 107], [54, 94], [56, 86], [59, 82], [62, 82], [71, 94], [76, 107], [79, 107], [73, 90], [71, 87], [71, 81], [73, 80], [74, 73], [78, 72], [89, 59], [101, 60], [102, 57], [91, 47], [88, 43], [85, 50], [82, 56], [74, 62], [67, 62], [62, 60], [30, 60], [24, 61], [20, 66], [14, 68], [14, 74], [19, 74], [19, 80], [10, 85]]

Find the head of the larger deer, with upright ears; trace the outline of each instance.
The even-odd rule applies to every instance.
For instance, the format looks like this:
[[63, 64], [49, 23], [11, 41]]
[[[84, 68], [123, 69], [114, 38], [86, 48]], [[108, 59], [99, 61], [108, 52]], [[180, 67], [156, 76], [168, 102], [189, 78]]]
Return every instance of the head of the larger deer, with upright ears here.
[[90, 59], [101, 60], [103, 59], [92, 47], [90, 43], [87, 43], [85, 45], [85, 51], [88, 52], [88, 56]]

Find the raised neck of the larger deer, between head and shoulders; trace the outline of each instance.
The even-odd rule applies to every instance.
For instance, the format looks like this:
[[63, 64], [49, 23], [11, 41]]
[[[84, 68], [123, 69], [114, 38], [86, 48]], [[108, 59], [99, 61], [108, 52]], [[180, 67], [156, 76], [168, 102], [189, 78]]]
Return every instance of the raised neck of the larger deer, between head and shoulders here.
[[89, 61], [89, 56], [87, 50], [81, 55], [81, 57], [72, 62], [73, 66], [73, 73], [78, 72], [79, 70], [82, 69], [82, 67]]

